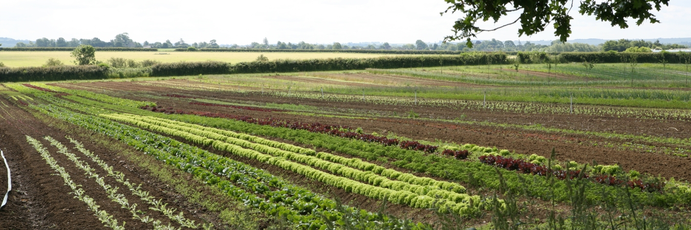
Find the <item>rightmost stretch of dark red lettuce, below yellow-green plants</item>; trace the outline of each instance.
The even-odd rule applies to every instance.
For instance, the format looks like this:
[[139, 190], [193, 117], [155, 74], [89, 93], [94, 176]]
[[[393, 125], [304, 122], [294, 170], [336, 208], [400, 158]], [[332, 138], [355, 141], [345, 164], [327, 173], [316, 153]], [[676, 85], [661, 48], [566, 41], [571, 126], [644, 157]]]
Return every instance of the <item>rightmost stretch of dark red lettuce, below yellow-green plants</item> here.
[[[533, 164], [521, 159], [513, 159], [511, 157], [502, 157], [495, 155], [482, 155], [478, 157], [480, 162], [484, 164], [489, 164], [493, 166], [498, 166], [502, 169], [507, 169], [511, 171], [520, 171], [522, 173], [530, 173], [533, 175], [547, 175], [551, 173], [559, 180], [565, 180], [567, 176], [569, 179], [573, 180], [578, 177], [580, 171], [565, 171], [565, 170], [553, 170], [547, 169], [546, 166], [541, 166], [539, 164]], [[590, 178], [589, 175], [583, 174], [583, 178]], [[594, 182], [600, 184], [607, 184], [610, 186], [626, 184], [630, 188], [638, 188], [643, 191], [654, 192], [662, 191], [663, 184], [661, 182], [643, 182], [643, 180], [630, 180], [629, 182], [624, 182], [611, 175], [597, 175], [591, 178]]]

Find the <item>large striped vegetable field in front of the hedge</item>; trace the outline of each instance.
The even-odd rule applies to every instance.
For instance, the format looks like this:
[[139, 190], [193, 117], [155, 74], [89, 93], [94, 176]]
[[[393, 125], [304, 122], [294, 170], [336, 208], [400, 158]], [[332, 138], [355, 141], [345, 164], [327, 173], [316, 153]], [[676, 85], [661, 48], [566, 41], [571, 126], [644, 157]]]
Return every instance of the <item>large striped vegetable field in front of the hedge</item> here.
[[0, 226], [688, 229], [688, 77], [495, 64], [6, 83]]

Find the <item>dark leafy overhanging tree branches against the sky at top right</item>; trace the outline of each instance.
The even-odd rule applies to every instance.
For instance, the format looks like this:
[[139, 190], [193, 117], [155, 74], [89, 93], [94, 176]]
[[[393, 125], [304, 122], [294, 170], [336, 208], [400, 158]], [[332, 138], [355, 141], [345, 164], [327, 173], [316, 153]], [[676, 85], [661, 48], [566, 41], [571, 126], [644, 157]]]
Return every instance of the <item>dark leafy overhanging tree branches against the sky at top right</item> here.
[[[454, 35], [444, 37], [444, 41], [466, 39], [466, 46], [473, 47], [471, 37], [485, 31], [493, 31], [519, 23], [518, 36], [534, 35], [545, 30], [547, 25], [553, 24], [554, 35], [559, 40], [566, 42], [571, 34], [571, 19], [569, 15], [574, 9], [574, 0], [444, 0], [450, 3], [442, 15], [451, 12], [462, 12], [463, 18], [455, 21], [453, 25]], [[609, 21], [612, 26], [628, 28], [627, 19], [636, 20], [636, 25], [641, 26], [644, 21], [659, 23], [653, 9], [659, 11], [662, 5], [668, 5], [669, 0], [581, 0], [578, 12], [581, 15], [595, 15], [597, 20]], [[498, 26], [497, 28], [480, 28], [475, 26], [477, 21], [493, 20], [497, 23], [500, 18], [506, 17], [510, 12], [521, 12], [520, 16], [512, 22]]]

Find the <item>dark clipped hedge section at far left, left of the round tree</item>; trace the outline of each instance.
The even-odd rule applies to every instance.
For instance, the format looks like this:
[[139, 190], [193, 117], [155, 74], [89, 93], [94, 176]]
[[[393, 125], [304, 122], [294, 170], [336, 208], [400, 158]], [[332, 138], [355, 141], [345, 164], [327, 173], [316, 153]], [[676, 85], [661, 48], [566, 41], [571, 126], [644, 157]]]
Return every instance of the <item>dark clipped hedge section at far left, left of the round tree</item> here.
[[106, 77], [108, 77], [108, 68], [102, 66], [0, 68], [0, 82], [63, 81]]

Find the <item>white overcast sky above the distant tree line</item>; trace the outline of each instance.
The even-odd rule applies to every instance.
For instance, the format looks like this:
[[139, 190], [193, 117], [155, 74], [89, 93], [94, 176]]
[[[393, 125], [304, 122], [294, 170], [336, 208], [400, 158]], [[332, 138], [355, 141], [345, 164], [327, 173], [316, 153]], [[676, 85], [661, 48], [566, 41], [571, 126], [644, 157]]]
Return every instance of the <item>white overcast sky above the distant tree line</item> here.
[[[578, 1], [576, 1], [578, 4]], [[0, 37], [36, 40], [92, 38], [110, 40], [129, 32], [135, 41], [218, 40], [219, 44], [276, 41], [308, 43], [440, 41], [451, 35], [462, 15], [439, 16], [443, 0], [296, 0], [296, 1], [86, 1], [8, 0], [0, 3]], [[570, 39], [652, 39], [691, 37], [691, 1], [672, 0], [654, 12], [660, 24], [612, 28], [609, 23], [571, 11]], [[512, 16], [512, 15], [510, 15]], [[515, 19], [515, 18], [514, 18]], [[507, 19], [508, 21], [508, 19]], [[513, 21], [513, 20], [511, 20]], [[486, 23], [486, 26], [494, 26]], [[549, 26], [551, 29], [552, 27]], [[518, 26], [486, 32], [477, 39], [552, 40], [553, 30], [518, 37]]]

